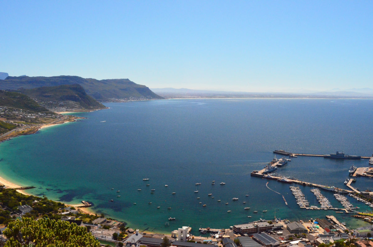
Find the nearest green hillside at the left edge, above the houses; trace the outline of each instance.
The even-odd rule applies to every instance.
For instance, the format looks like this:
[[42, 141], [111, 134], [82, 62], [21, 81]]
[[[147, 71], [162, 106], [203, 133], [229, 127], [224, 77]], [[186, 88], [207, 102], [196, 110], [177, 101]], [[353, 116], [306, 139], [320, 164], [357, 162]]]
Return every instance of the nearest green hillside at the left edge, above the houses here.
[[19, 92], [0, 90], [0, 106], [13, 107], [31, 112], [51, 113], [47, 108], [40, 106], [29, 96]]

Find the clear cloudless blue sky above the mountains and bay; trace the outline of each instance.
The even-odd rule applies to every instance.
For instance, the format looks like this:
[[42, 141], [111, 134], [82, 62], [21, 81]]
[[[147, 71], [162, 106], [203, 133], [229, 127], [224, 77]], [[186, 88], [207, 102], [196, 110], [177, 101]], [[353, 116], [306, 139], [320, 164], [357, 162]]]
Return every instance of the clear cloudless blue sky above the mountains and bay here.
[[373, 1], [1, 1], [0, 72], [150, 88], [373, 87]]

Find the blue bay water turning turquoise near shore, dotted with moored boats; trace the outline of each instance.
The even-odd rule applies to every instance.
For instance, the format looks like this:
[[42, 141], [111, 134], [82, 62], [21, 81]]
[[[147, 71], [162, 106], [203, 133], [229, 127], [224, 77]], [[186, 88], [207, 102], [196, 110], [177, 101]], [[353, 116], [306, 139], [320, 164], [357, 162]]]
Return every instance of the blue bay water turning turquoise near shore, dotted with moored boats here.
[[[269, 181], [270, 188], [285, 196], [286, 206], [280, 195], [266, 188], [267, 180], [250, 173], [272, 160], [275, 149], [364, 156], [373, 152], [373, 100], [155, 100], [106, 106], [110, 109], [76, 114], [87, 119], [1, 143], [1, 174], [17, 184], [37, 186], [29, 193], [68, 203], [92, 201], [96, 212], [133, 227], [170, 232], [184, 225], [229, 227], [248, 222], [247, 216], [325, 216], [326, 212], [299, 209], [288, 184]], [[367, 160], [297, 157], [276, 172], [343, 187], [352, 163], [368, 166]], [[197, 182], [202, 184], [194, 185]], [[355, 186], [373, 190], [367, 178], [358, 178]], [[310, 203], [318, 205], [310, 187], [302, 189]], [[323, 194], [341, 206], [333, 193]], [[352, 198], [351, 202], [368, 209]], [[268, 212], [262, 215], [262, 210]], [[364, 224], [336, 216], [351, 226]], [[176, 220], [169, 222], [169, 217]]]

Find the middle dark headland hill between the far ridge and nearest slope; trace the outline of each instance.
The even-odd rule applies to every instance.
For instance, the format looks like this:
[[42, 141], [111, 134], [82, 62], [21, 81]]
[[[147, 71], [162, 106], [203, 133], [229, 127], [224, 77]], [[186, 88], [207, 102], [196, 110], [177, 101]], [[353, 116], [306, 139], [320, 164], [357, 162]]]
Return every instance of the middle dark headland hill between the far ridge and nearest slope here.
[[87, 95], [84, 88], [79, 84], [31, 89], [19, 88], [17, 91], [26, 94], [36, 100], [41, 106], [53, 111], [106, 108], [93, 97]]

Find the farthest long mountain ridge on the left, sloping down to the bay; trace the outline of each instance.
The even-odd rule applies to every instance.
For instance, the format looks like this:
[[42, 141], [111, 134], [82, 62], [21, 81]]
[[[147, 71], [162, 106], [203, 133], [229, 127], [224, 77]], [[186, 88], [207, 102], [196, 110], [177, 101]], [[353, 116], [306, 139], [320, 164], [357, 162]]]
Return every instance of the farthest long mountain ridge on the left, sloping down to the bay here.
[[53, 87], [59, 85], [81, 85], [86, 93], [98, 101], [128, 101], [163, 99], [148, 87], [136, 84], [129, 79], [82, 78], [79, 76], [8, 76], [0, 80], [0, 89], [17, 90], [18, 88]]

